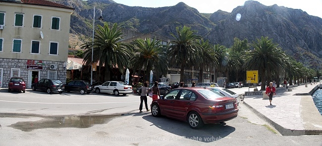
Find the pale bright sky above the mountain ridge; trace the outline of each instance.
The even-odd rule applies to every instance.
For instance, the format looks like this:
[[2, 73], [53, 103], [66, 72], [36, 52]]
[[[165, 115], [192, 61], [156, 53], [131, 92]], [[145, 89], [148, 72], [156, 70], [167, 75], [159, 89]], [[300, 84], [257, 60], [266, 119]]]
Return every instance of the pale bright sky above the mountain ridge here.
[[[246, 0], [113, 0], [116, 3], [128, 6], [142, 7], [163, 7], [173, 6], [179, 2], [184, 2], [190, 7], [196, 8], [200, 13], [214, 13], [217, 10], [231, 12], [239, 5], [243, 5]], [[264, 5], [277, 4], [293, 9], [301, 9], [309, 15], [322, 18], [322, 0], [256, 0]]]

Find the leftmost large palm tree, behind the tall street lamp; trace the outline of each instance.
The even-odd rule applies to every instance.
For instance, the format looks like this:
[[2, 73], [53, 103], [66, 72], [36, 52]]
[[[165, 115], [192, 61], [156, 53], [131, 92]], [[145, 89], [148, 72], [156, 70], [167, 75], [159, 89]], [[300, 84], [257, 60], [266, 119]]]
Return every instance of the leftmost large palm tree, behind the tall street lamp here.
[[[105, 65], [105, 81], [110, 80], [110, 70], [117, 67], [123, 73], [124, 68], [129, 66], [129, 59], [133, 50], [131, 45], [123, 43], [121, 29], [117, 28], [114, 23], [112, 28], [108, 28], [107, 22], [104, 26], [98, 25], [98, 30], [94, 36], [93, 45], [93, 62], [100, 61], [100, 67]], [[88, 47], [88, 44], [83, 44], [82, 48]], [[86, 65], [92, 64], [92, 45], [84, 52], [84, 62]]]

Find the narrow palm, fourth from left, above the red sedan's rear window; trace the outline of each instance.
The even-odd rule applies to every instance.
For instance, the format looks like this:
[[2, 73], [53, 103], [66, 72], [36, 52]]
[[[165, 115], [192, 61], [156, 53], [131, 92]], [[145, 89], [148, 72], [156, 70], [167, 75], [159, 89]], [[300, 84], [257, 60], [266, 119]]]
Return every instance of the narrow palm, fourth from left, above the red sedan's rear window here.
[[211, 45], [208, 40], [206, 42], [204, 40], [201, 40], [197, 44], [199, 50], [199, 59], [196, 63], [199, 66], [199, 80], [201, 80], [200, 82], [203, 82], [204, 69], [211, 68], [218, 64], [219, 55], [217, 52], [215, 52], [213, 45]]

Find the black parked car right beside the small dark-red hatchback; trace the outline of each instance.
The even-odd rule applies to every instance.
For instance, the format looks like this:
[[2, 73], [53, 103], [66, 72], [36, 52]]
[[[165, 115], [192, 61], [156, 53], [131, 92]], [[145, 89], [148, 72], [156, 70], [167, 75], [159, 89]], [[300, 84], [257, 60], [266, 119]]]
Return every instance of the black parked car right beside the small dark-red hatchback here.
[[31, 89], [33, 91], [47, 91], [47, 93], [49, 94], [52, 94], [53, 92], [58, 92], [59, 94], [61, 94], [65, 88], [64, 84], [62, 84], [59, 80], [41, 79], [37, 83], [33, 83], [31, 85]]

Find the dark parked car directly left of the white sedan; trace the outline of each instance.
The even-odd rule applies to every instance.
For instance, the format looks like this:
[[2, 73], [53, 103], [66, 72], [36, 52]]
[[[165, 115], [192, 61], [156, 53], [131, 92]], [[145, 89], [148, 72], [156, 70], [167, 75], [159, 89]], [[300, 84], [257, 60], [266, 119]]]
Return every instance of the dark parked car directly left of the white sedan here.
[[80, 94], [90, 94], [93, 91], [93, 86], [86, 81], [70, 81], [65, 84], [65, 91], [79, 92]]

